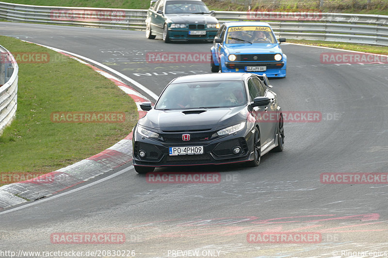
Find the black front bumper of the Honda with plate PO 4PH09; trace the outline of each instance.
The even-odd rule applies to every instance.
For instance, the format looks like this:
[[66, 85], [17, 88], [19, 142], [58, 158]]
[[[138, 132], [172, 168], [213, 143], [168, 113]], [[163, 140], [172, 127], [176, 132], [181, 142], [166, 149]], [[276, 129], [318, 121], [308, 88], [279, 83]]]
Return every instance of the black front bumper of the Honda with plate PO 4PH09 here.
[[[243, 130], [244, 131], [244, 130]], [[195, 138], [195, 134], [192, 134]], [[199, 137], [200, 138], [200, 137]], [[199, 139], [198, 138], [198, 139]], [[249, 131], [244, 135], [238, 132], [236, 135], [215, 137], [215, 139], [195, 142], [162, 142], [160, 139], [151, 139], [140, 136], [135, 132], [133, 143], [133, 165], [147, 167], [171, 167], [194, 165], [221, 165], [253, 160], [252, 146], [253, 134]], [[169, 147], [203, 146], [203, 154], [169, 155]], [[232, 149], [236, 146], [241, 152], [234, 154]], [[140, 157], [139, 151], [145, 151], [146, 157]]]

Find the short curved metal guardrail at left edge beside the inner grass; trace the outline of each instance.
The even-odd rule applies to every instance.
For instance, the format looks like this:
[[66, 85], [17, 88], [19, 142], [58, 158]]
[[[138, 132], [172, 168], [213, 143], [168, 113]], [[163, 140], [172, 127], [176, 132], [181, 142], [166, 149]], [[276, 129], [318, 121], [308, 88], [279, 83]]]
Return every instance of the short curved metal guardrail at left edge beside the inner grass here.
[[19, 67], [4, 47], [0, 46], [0, 135], [15, 118]]

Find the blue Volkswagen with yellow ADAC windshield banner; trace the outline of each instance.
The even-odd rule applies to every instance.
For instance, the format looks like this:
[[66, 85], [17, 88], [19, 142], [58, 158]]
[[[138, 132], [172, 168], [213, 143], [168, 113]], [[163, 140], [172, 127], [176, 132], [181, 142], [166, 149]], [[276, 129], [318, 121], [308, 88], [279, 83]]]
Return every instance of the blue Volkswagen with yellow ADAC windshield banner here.
[[218, 30], [211, 46], [211, 72], [266, 74], [285, 77], [287, 56], [265, 22], [226, 22]]

